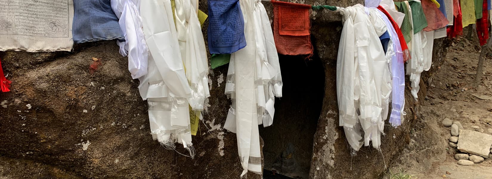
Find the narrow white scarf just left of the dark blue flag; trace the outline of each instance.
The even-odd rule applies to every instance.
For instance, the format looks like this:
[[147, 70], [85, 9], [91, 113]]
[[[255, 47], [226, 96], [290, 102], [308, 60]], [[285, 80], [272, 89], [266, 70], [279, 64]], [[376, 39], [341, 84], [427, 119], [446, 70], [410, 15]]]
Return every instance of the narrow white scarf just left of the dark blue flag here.
[[193, 110], [203, 111], [203, 103], [210, 96], [210, 91], [207, 50], [198, 21], [198, 4], [196, 0], [175, 0], [175, 5], [180, 52], [191, 88], [188, 101]]

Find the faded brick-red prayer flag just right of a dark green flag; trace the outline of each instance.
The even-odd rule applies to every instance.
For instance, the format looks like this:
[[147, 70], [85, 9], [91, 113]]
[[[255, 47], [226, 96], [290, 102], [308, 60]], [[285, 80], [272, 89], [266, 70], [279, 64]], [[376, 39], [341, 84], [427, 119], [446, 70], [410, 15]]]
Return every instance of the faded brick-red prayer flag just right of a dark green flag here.
[[449, 24], [448, 19], [439, 10], [439, 8], [431, 2], [431, 0], [421, 0], [421, 2], [422, 9], [427, 20], [427, 27], [424, 28], [425, 31], [438, 30]]

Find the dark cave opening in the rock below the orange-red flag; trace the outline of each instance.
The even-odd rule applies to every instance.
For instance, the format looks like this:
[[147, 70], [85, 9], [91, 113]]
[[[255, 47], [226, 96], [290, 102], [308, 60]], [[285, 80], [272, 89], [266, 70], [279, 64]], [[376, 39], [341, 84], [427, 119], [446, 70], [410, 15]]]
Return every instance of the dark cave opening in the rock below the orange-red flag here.
[[265, 142], [263, 178], [307, 179], [323, 104], [325, 73], [318, 58], [304, 60], [303, 56], [279, 55], [279, 62], [282, 97], [275, 99], [273, 125], [259, 127]]

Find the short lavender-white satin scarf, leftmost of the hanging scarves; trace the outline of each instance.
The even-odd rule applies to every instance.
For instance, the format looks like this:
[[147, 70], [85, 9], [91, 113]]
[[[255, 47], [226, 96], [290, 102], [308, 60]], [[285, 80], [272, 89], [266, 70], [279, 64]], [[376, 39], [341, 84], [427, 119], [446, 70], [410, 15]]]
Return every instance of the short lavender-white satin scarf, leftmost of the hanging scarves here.
[[124, 42], [117, 42], [120, 54], [128, 56], [128, 70], [133, 79], [147, 74], [149, 58], [139, 6], [140, 0], [111, 0], [111, 8], [120, 19], [120, 28], [125, 37]]

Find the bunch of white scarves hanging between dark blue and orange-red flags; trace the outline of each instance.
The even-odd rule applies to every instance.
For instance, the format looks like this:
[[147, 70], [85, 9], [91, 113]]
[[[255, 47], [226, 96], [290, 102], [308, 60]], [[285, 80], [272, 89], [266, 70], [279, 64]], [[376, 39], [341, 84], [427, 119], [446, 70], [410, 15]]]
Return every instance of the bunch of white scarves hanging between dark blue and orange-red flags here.
[[243, 177], [247, 171], [262, 173], [258, 124], [272, 125], [282, 77], [265, 7], [260, 0], [240, 0], [240, 5], [249, 45], [231, 54], [225, 94], [232, 105], [224, 128], [237, 133]]

